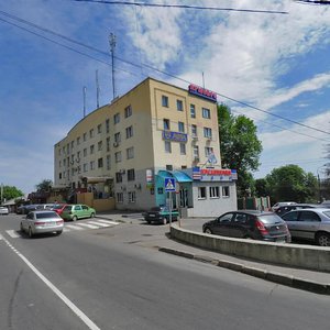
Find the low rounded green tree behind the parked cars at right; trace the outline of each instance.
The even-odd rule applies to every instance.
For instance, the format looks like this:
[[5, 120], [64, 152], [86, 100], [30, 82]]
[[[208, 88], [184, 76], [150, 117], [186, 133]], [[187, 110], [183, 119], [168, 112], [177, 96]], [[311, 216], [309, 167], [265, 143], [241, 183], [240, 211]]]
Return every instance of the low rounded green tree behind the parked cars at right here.
[[274, 168], [266, 176], [271, 188], [272, 202], [276, 201], [317, 201], [318, 180], [312, 173], [305, 173], [298, 165], [285, 165]]

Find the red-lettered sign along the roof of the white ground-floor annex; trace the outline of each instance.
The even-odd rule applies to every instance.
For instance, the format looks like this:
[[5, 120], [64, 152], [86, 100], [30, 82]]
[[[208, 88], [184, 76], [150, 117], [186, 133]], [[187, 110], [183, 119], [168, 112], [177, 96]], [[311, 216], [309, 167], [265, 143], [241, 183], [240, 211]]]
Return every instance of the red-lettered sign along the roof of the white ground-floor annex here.
[[193, 167], [193, 179], [199, 182], [232, 182], [238, 179], [235, 169]]

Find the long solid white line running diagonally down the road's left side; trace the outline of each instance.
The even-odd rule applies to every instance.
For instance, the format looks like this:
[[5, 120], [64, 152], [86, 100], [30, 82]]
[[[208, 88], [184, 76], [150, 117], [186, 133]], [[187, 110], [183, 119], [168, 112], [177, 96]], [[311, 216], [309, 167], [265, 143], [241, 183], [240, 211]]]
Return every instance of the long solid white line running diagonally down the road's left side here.
[[7, 245], [29, 266], [29, 268], [88, 327], [90, 330], [101, 330], [81, 309], [69, 300], [50, 279], [47, 279], [20, 251], [0, 235]]

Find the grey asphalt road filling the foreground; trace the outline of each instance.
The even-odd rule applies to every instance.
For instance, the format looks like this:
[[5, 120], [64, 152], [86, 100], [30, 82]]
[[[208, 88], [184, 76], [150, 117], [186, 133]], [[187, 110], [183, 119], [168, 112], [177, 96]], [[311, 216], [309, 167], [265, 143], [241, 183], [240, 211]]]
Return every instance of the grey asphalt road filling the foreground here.
[[329, 329], [328, 296], [161, 253], [166, 226], [30, 240], [19, 219], [0, 217], [0, 329]]

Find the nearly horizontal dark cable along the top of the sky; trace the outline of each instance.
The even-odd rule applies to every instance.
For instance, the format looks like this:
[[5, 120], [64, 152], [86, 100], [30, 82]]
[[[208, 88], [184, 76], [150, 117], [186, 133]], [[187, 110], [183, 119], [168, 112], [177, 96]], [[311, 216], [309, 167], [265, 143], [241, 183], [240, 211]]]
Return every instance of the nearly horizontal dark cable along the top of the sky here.
[[258, 9], [237, 9], [237, 8], [220, 8], [220, 7], [202, 7], [189, 4], [165, 4], [165, 3], [146, 3], [146, 2], [130, 2], [130, 1], [107, 1], [107, 0], [73, 0], [76, 2], [91, 2], [103, 4], [121, 4], [135, 7], [152, 7], [152, 8], [176, 8], [176, 9], [194, 9], [194, 10], [216, 10], [216, 11], [237, 11], [249, 13], [272, 13], [272, 14], [288, 14], [286, 11], [258, 10]]

